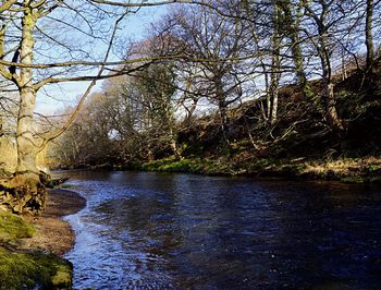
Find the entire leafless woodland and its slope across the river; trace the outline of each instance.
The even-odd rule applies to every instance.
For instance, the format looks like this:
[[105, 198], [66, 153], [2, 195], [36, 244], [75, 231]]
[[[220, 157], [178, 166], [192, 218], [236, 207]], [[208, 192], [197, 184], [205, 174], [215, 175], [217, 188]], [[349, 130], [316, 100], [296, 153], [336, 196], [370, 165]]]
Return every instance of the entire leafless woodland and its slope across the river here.
[[157, 59], [105, 81], [47, 160], [377, 181], [379, 9], [378, 1], [171, 8], [126, 57]]

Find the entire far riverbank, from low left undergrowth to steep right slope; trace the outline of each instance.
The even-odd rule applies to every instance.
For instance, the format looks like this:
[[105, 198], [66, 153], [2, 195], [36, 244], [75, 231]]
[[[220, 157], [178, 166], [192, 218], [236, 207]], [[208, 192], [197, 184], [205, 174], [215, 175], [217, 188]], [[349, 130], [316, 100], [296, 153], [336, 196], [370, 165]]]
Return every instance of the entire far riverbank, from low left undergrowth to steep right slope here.
[[[367, 82], [362, 82], [364, 74], [358, 70], [345, 80], [334, 77], [340, 130], [327, 120], [322, 81], [315, 80], [309, 83], [311, 96], [297, 85], [279, 89], [278, 118], [273, 123], [266, 118], [268, 102], [262, 96], [232, 106], [225, 123], [221, 123], [218, 112], [210, 111], [176, 123], [170, 135], [150, 138], [135, 134], [135, 145], [133, 136], [128, 136], [128, 143], [123, 138], [122, 143], [115, 138], [90, 144], [86, 143], [88, 137], [86, 142], [75, 140], [75, 144], [86, 145], [81, 150], [86, 154], [56, 155], [59, 158], [52, 158], [49, 167], [378, 183], [381, 62], [378, 68], [374, 77]], [[131, 147], [125, 147], [127, 144]], [[63, 148], [69, 146], [63, 143]]]

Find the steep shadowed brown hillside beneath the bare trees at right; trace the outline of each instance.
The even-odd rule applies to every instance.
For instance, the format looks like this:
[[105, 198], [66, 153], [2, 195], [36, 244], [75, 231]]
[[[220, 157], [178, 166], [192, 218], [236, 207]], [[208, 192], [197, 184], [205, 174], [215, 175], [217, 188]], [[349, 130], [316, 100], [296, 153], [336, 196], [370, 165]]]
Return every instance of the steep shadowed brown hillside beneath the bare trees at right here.
[[[381, 82], [380, 62], [362, 83], [362, 73], [335, 76], [336, 108], [344, 124], [340, 134], [324, 120], [321, 81], [310, 82], [314, 97], [297, 86], [280, 89], [274, 125], [263, 120], [265, 98], [229, 112], [225, 131], [218, 116], [182, 125], [177, 146], [182, 159], [167, 148], [145, 170], [198, 173], [287, 176], [324, 178], [347, 182], [380, 181]], [[362, 84], [361, 84], [362, 83]]]

